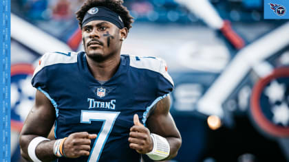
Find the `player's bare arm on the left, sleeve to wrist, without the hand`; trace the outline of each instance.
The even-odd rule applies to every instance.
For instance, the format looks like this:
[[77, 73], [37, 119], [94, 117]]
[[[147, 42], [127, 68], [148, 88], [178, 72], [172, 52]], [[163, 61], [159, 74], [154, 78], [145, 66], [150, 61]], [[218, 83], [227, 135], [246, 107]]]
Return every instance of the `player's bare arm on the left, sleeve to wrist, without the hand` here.
[[[21, 155], [31, 160], [28, 156], [28, 146], [35, 137], [47, 137], [54, 121], [55, 109], [50, 100], [40, 91], [36, 92], [35, 104], [26, 118], [19, 139]], [[36, 155], [43, 161], [56, 159], [53, 154], [54, 141], [43, 141], [36, 148]]]

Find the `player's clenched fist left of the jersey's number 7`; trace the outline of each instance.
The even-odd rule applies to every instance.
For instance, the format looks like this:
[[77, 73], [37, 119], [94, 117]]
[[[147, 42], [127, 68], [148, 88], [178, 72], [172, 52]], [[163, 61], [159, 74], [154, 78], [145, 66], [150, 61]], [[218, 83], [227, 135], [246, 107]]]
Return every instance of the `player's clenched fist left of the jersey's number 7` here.
[[97, 135], [88, 132], [74, 132], [67, 137], [63, 143], [63, 149], [66, 157], [78, 158], [81, 156], [89, 156], [91, 139], [95, 139]]

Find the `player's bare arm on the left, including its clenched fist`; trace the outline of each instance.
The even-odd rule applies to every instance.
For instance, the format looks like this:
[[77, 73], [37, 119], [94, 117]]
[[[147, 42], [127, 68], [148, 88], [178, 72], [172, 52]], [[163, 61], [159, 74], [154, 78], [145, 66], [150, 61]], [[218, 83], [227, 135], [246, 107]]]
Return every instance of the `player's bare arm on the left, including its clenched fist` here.
[[[28, 146], [35, 137], [47, 137], [56, 119], [55, 109], [50, 100], [40, 91], [36, 92], [35, 105], [30, 111], [21, 131], [19, 143], [21, 155], [31, 161], [28, 155]], [[75, 132], [67, 137], [63, 143], [65, 155], [69, 158], [88, 156], [90, 151], [91, 139], [96, 135], [90, 135], [88, 132]], [[43, 141], [36, 147], [36, 157], [41, 161], [53, 161], [54, 143], [52, 141]]]

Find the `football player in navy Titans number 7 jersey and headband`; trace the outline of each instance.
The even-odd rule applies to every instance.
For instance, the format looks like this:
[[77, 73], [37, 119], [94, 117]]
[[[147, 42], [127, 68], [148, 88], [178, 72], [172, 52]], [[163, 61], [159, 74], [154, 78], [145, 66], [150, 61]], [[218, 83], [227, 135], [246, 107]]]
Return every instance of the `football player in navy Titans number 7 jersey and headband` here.
[[[133, 18], [120, 0], [87, 0], [76, 12], [85, 51], [43, 55], [35, 104], [23, 126], [30, 161], [172, 159], [182, 140], [169, 113], [164, 60], [120, 55]], [[55, 139], [47, 139], [52, 126]]]

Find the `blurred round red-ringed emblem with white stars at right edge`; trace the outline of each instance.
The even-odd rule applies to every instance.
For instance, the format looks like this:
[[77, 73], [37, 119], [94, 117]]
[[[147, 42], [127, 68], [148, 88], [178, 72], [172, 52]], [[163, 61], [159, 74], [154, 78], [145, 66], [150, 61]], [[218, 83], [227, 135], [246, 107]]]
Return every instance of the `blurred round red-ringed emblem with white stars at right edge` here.
[[289, 137], [289, 68], [275, 69], [252, 91], [250, 112], [257, 126], [275, 137]]

